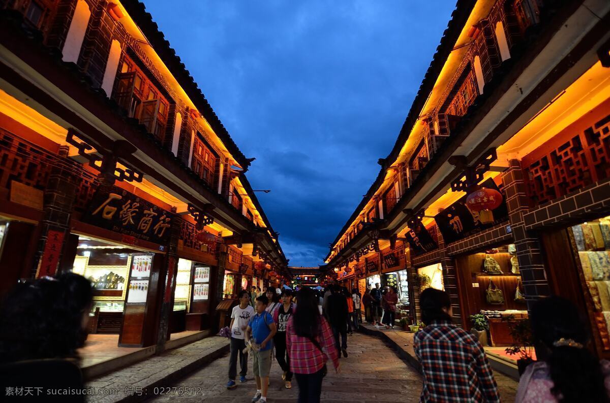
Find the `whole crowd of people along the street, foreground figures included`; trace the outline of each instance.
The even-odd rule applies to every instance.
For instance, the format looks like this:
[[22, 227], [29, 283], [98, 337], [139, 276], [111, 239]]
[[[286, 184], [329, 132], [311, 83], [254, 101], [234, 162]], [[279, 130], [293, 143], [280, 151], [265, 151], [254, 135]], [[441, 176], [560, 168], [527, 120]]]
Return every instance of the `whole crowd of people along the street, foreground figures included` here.
[[[392, 289], [379, 285], [362, 298], [333, 285], [325, 293], [304, 287], [265, 293], [239, 293], [231, 314], [228, 388], [235, 388], [237, 357], [240, 382], [246, 382], [253, 356], [256, 394], [266, 402], [274, 358], [286, 388], [298, 384], [299, 402], [319, 402], [327, 363], [340, 373], [348, 357], [348, 334], [359, 326], [362, 308], [375, 324], [392, 326]], [[93, 290], [82, 276], [65, 273], [18, 284], [0, 305], [0, 387], [36, 382], [46, 387], [83, 388], [79, 355], [87, 338]], [[296, 300], [296, 301], [295, 301]], [[385, 302], [384, 302], [385, 301]], [[378, 308], [379, 307], [379, 308]], [[414, 352], [422, 366], [422, 402], [499, 402], [500, 393], [483, 346], [475, 335], [453, 323], [447, 292], [420, 294], [425, 326], [414, 334]], [[383, 320], [383, 317], [387, 319]], [[531, 402], [610, 401], [610, 362], [587, 348], [589, 335], [576, 306], [551, 296], [531, 306], [537, 362], [520, 377], [517, 399]], [[84, 401], [71, 396], [63, 401]]]

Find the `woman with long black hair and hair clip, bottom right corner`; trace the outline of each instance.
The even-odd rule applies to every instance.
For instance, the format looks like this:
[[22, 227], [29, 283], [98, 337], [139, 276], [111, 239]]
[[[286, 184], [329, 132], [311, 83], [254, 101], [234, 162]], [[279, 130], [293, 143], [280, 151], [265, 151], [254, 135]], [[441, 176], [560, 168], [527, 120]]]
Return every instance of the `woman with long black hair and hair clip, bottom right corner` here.
[[529, 318], [539, 361], [521, 376], [515, 401], [609, 402], [610, 362], [586, 348], [589, 336], [576, 306], [550, 296], [534, 304]]

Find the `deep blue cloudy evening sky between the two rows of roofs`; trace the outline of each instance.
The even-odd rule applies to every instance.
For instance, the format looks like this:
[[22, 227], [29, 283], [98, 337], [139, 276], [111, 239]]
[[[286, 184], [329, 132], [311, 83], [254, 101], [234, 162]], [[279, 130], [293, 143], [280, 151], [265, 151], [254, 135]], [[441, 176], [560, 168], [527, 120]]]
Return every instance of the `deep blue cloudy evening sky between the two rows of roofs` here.
[[379, 173], [455, 0], [148, 0], [247, 158], [290, 265], [323, 264]]

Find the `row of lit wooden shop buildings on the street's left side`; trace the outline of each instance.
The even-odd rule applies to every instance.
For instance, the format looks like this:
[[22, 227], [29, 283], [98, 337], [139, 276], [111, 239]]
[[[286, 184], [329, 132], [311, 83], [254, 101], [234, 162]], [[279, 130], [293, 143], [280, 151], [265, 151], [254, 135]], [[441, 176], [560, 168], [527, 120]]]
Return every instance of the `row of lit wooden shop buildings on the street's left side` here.
[[142, 3], [0, 1], [0, 294], [74, 271], [121, 346], [215, 328], [287, 275], [251, 161]]

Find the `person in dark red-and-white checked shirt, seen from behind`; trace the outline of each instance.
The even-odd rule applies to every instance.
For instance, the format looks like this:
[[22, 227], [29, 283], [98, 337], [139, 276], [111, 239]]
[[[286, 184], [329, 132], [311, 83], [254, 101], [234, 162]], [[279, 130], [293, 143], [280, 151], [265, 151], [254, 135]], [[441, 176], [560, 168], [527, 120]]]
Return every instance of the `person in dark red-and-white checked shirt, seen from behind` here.
[[451, 323], [449, 295], [426, 289], [420, 306], [426, 324], [414, 337], [423, 373], [420, 402], [500, 402], [483, 346]]

